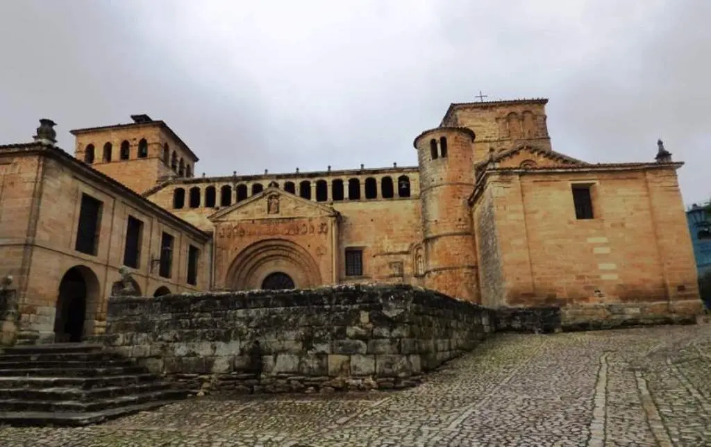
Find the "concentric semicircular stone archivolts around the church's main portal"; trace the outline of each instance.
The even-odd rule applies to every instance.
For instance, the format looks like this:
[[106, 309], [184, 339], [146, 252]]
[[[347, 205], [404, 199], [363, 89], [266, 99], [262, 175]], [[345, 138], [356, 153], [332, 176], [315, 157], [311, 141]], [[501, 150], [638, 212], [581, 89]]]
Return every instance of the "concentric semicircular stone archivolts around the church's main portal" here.
[[234, 290], [262, 289], [265, 279], [272, 279], [277, 272], [292, 279], [297, 289], [321, 285], [319, 266], [303, 247], [285, 239], [265, 239], [237, 254], [225, 286]]

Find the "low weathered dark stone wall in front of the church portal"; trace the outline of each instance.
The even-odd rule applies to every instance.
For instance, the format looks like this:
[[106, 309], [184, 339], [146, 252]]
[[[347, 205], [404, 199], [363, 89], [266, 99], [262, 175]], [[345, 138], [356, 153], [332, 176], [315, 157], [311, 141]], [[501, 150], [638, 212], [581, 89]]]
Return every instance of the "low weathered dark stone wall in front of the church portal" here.
[[493, 312], [412, 286], [112, 297], [102, 340], [193, 389], [389, 389], [478, 345]]

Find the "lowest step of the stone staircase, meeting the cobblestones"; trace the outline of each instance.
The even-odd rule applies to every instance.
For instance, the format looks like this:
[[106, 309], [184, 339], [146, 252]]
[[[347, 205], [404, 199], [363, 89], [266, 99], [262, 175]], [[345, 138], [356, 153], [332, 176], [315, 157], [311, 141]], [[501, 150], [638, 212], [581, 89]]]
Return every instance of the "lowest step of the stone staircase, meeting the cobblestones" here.
[[151, 401], [143, 404], [121, 406], [119, 408], [106, 409], [103, 411], [91, 411], [80, 413], [76, 411], [13, 411], [0, 412], [0, 425], [9, 424], [11, 426], [83, 426], [98, 424], [109, 419], [156, 409], [159, 406], [171, 404], [174, 401]]

